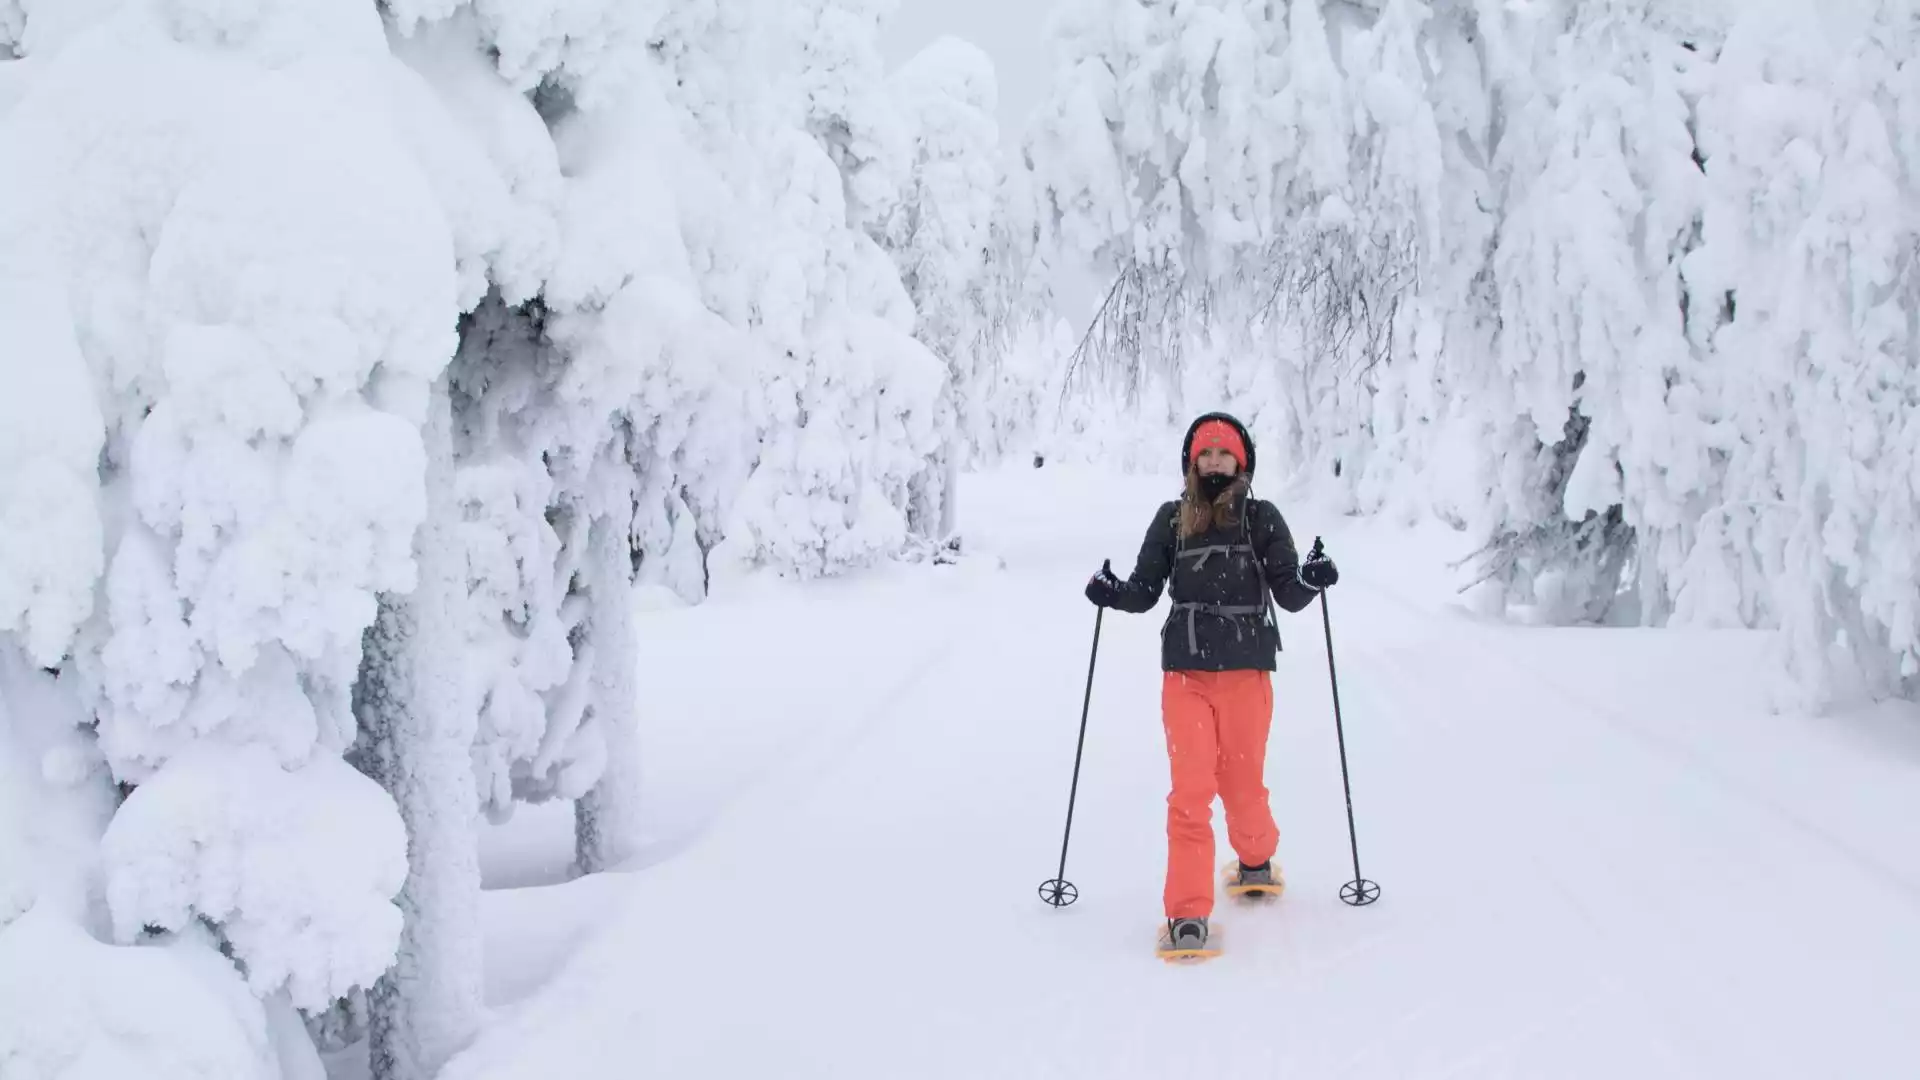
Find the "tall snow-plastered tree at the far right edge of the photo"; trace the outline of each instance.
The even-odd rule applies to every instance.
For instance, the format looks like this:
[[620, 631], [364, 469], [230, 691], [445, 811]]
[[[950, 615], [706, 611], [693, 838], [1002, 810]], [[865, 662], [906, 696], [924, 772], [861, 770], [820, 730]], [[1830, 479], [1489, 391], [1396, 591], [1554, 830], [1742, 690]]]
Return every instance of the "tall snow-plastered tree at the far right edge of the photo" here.
[[1743, 10], [1699, 113], [1709, 202], [1688, 277], [1734, 436], [1715, 446], [1718, 498], [1676, 573], [1676, 615], [1778, 625], [1801, 703], [1914, 696], [1912, 12]]

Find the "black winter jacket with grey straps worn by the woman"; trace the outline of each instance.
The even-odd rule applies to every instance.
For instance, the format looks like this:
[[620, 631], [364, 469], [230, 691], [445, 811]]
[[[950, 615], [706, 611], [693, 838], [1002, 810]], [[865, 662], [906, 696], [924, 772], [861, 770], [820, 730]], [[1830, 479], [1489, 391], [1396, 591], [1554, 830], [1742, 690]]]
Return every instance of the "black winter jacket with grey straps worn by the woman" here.
[[1179, 511], [1179, 502], [1154, 511], [1114, 607], [1152, 611], [1162, 588], [1167, 590], [1173, 609], [1160, 628], [1165, 671], [1273, 671], [1281, 628], [1269, 594], [1286, 611], [1300, 611], [1317, 596], [1300, 580], [1300, 553], [1286, 519], [1271, 502], [1242, 500], [1236, 527], [1215, 525], [1183, 538]]

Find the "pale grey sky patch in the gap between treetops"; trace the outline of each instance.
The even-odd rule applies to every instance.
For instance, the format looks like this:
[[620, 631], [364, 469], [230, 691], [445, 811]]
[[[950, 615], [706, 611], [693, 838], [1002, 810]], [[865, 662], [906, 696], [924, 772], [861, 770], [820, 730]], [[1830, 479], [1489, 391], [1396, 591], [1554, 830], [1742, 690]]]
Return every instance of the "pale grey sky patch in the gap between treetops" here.
[[1046, 15], [1060, 0], [899, 0], [879, 38], [887, 67], [899, 67], [933, 38], [952, 35], [993, 58], [1000, 88], [1000, 142], [1014, 146], [1027, 113], [1046, 94]]

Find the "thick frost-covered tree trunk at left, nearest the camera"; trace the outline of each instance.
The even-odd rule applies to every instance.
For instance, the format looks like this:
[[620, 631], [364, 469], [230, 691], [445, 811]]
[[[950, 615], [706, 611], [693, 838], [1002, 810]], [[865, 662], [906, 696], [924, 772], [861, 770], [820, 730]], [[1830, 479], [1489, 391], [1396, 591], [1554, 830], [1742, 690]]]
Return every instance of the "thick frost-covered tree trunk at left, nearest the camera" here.
[[467, 596], [445, 379], [422, 436], [420, 580], [409, 596], [380, 598], [353, 694], [367, 740], [359, 761], [407, 826], [399, 955], [367, 995], [374, 1080], [430, 1080], [474, 1036], [482, 1009], [476, 715], [461, 690]]

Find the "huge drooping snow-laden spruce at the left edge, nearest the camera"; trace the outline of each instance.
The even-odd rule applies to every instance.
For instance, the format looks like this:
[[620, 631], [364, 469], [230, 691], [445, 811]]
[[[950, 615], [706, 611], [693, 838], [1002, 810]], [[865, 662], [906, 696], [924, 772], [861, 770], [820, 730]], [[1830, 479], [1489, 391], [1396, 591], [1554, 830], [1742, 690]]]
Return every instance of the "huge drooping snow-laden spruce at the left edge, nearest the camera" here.
[[[69, 486], [31, 525], [61, 563], [23, 561], [25, 644], [71, 661], [98, 753], [140, 784], [115, 817], [140, 842], [104, 849], [115, 938], [213, 919], [255, 992], [323, 1003], [399, 928], [401, 830], [340, 753], [376, 596], [415, 580], [453, 346], [451, 238], [386, 108], [403, 71], [374, 12], [317, 2], [129, 4], [31, 63], [0, 133], [0, 306], [63, 430], [8, 463], [8, 503]], [[276, 809], [213, 824], [167, 798], [196, 786]], [[288, 832], [330, 819], [367, 828]]]

